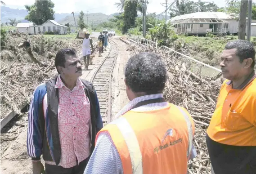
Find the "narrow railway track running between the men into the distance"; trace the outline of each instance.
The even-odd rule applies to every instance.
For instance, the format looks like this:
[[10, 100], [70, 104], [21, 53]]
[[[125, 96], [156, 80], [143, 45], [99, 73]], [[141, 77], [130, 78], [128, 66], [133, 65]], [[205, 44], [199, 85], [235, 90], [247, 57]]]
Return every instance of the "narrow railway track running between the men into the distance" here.
[[90, 80], [93, 83], [99, 98], [99, 108], [103, 125], [111, 121], [112, 71], [118, 55], [117, 43], [110, 40], [110, 46], [108, 55], [104, 58], [103, 62], [100, 64]]

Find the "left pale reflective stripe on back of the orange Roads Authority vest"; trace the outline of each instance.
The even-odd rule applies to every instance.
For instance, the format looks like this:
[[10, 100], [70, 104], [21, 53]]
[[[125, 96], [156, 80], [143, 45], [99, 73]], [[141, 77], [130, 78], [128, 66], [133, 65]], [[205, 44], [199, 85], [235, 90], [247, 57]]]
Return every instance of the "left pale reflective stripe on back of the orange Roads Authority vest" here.
[[142, 155], [139, 148], [139, 142], [126, 118], [120, 117], [109, 124], [117, 125], [125, 139], [130, 154], [132, 173], [143, 174]]

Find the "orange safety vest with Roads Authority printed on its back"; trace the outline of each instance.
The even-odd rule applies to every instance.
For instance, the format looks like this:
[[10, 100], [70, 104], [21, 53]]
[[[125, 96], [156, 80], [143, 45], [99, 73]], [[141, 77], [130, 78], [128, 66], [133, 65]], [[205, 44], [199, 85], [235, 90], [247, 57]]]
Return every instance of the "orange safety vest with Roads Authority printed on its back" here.
[[124, 174], [186, 174], [194, 135], [189, 113], [173, 104], [128, 111], [99, 131], [108, 131]]

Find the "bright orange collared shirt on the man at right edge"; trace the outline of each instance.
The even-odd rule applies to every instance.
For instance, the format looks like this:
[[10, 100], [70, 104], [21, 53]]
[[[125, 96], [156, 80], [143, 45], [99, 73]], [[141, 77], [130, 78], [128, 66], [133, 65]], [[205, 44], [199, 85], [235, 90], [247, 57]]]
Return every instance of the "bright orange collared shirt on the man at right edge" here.
[[256, 74], [237, 89], [225, 80], [220, 88], [216, 110], [207, 129], [218, 143], [233, 146], [256, 146]]

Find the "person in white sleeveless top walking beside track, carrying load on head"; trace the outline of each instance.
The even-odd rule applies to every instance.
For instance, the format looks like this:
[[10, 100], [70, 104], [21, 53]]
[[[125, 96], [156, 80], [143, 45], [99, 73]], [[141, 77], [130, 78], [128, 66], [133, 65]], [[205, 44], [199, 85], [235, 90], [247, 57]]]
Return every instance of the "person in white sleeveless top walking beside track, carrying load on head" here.
[[[86, 31], [85, 38], [83, 39], [83, 46], [82, 46], [83, 48], [82, 53], [85, 61], [85, 70], [88, 70], [89, 62], [90, 62], [90, 54], [94, 52], [92, 39], [89, 36], [90, 36], [90, 32]], [[92, 51], [90, 51], [90, 46], [92, 48]]]

